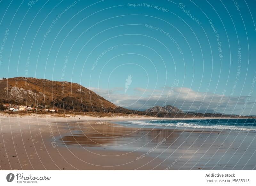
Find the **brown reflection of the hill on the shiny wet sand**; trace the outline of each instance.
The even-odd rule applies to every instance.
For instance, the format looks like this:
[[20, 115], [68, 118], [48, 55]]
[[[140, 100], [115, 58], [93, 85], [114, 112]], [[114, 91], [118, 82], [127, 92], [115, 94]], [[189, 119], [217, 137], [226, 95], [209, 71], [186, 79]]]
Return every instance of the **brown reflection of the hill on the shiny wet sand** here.
[[172, 130], [131, 128], [114, 123], [73, 123], [69, 124], [72, 133], [63, 136], [62, 141], [68, 145], [80, 146], [143, 146], [147, 143], [158, 143], [164, 138], [168, 142], [177, 137]]

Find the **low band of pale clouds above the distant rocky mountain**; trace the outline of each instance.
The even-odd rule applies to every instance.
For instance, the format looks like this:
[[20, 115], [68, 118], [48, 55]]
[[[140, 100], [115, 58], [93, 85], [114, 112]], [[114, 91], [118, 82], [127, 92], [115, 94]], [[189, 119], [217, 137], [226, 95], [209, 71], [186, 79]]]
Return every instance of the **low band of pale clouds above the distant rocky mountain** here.
[[109, 90], [95, 87], [89, 89], [117, 106], [140, 111], [156, 105], [172, 105], [188, 112], [216, 111], [226, 114], [247, 115], [244, 113], [251, 114], [255, 104], [253, 100], [248, 101], [248, 96], [230, 96], [225, 89], [222, 94], [214, 94], [209, 89], [198, 92], [187, 87], [165, 87], [162, 90], [136, 87], [133, 89], [134, 95], [122, 93], [124, 92], [122, 87]]

